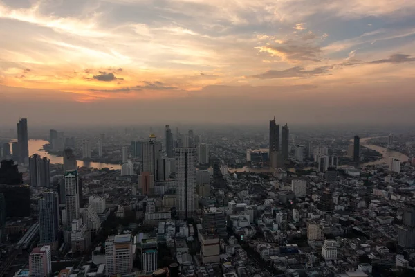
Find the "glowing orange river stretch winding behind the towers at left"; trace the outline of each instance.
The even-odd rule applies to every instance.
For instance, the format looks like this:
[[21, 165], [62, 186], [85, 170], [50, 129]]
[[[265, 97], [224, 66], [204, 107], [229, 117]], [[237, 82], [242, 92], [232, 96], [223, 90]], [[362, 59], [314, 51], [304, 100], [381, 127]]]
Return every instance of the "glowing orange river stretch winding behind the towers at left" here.
[[[15, 141], [15, 140], [14, 140]], [[29, 155], [39, 154], [41, 157], [48, 157], [50, 159], [50, 163], [54, 164], [63, 164], [64, 157], [55, 156], [53, 154], [49, 154], [45, 150], [43, 150], [43, 145], [49, 143], [48, 141], [44, 141], [42, 139], [30, 139], [29, 140]], [[11, 148], [11, 145], [10, 145]], [[77, 166], [82, 167], [86, 166], [87, 168], [109, 168], [109, 169], [121, 169], [121, 165], [114, 164], [114, 163], [95, 163], [89, 161], [82, 161], [77, 160]]]

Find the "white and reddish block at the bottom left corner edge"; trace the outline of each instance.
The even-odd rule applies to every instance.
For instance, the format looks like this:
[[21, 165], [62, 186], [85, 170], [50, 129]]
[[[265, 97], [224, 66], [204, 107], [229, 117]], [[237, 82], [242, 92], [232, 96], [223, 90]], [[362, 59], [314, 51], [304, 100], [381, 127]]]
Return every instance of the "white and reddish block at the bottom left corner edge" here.
[[49, 276], [52, 271], [52, 258], [50, 246], [36, 247], [29, 256], [29, 272], [33, 277]]

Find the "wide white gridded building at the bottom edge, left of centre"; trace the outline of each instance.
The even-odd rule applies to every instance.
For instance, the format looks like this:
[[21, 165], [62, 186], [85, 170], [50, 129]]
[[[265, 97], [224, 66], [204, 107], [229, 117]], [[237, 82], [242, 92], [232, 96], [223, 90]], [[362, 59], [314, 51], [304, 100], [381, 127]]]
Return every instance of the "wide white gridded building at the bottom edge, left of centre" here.
[[136, 247], [131, 235], [115, 235], [105, 241], [105, 269], [107, 276], [129, 274], [133, 269]]

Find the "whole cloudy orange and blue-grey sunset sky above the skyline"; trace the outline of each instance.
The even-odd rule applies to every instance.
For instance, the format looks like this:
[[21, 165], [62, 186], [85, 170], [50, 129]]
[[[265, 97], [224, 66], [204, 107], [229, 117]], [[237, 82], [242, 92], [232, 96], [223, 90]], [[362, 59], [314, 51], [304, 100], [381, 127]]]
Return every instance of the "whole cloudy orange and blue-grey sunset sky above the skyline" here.
[[415, 1], [0, 0], [0, 124], [413, 124]]

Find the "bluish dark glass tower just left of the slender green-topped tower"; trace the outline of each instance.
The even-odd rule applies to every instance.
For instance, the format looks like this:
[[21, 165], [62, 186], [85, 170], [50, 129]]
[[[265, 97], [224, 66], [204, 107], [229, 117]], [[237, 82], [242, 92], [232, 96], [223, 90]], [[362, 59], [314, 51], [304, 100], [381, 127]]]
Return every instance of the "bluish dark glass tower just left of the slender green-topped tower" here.
[[43, 193], [38, 204], [40, 243], [53, 243], [58, 238], [59, 230], [59, 200], [57, 193]]

